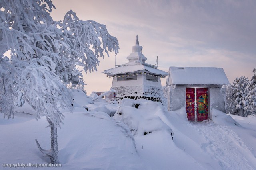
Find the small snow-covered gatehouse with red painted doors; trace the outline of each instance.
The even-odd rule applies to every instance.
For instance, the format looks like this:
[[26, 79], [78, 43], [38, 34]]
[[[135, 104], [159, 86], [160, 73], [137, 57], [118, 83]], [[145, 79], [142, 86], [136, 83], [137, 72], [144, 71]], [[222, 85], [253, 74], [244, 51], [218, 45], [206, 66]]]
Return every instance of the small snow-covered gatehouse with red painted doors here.
[[226, 85], [223, 68], [169, 67], [166, 80], [168, 110], [186, 108], [189, 121], [211, 119], [211, 109], [226, 113]]

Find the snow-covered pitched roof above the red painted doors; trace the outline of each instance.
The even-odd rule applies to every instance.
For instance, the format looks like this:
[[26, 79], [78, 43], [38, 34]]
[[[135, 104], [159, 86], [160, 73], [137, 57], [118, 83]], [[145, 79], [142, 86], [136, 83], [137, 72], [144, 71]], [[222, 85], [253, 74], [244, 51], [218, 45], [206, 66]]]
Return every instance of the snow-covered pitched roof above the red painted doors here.
[[166, 85], [171, 84], [229, 84], [223, 68], [169, 67]]

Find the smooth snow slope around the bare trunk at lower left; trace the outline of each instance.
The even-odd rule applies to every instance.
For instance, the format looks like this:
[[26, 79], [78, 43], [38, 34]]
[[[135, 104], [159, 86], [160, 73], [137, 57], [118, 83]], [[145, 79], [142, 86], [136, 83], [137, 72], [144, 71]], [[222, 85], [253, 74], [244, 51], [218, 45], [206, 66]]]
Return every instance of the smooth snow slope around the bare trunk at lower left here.
[[[134, 137], [124, 123], [84, 108], [74, 108], [72, 114], [64, 115], [64, 125], [58, 129], [58, 158], [62, 167], [56, 169], [145, 168], [136, 151]], [[50, 129], [45, 128], [48, 125], [45, 117], [39, 121], [31, 118], [24, 121], [24, 117], [15, 115], [14, 121], [7, 121], [2, 119], [2, 114], [0, 116], [0, 150], [4, 153], [0, 154], [1, 165], [50, 162], [35, 143], [38, 139], [42, 148], [50, 148]]]

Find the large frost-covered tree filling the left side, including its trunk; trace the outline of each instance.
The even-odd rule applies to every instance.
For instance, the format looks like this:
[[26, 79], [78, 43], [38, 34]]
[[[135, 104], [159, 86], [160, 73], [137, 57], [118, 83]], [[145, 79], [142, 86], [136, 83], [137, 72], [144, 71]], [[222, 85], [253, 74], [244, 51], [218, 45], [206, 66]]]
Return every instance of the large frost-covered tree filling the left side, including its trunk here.
[[58, 162], [57, 127], [64, 118], [59, 108], [72, 110], [66, 85], [84, 85], [77, 66], [96, 70], [98, 57], [119, 49], [105, 25], [79, 20], [72, 10], [56, 22], [54, 8], [51, 0], [0, 0], [0, 112], [13, 118], [14, 106], [28, 102], [36, 119], [46, 116], [51, 150], [36, 143], [51, 163]]

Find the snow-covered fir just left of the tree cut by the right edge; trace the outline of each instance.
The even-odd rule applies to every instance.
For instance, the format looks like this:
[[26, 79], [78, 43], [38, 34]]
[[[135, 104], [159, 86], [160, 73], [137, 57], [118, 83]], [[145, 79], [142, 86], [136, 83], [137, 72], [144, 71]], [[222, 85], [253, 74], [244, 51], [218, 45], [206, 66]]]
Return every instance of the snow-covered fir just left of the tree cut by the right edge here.
[[236, 78], [232, 85], [232, 101], [235, 105], [234, 114], [239, 116], [247, 116], [247, 112], [244, 110], [246, 107], [246, 86], [248, 85], [248, 78], [241, 76]]

